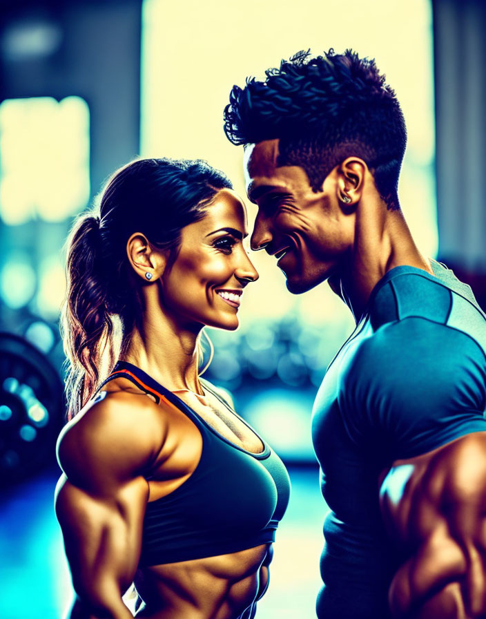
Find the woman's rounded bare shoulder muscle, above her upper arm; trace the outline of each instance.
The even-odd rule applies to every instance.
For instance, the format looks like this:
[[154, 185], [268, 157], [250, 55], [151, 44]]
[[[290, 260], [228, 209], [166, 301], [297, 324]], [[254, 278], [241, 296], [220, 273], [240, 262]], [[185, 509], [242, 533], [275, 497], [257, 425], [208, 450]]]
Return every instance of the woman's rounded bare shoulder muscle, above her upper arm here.
[[73, 482], [100, 470], [133, 477], [157, 457], [167, 431], [168, 416], [142, 392], [101, 391], [61, 431], [59, 466]]

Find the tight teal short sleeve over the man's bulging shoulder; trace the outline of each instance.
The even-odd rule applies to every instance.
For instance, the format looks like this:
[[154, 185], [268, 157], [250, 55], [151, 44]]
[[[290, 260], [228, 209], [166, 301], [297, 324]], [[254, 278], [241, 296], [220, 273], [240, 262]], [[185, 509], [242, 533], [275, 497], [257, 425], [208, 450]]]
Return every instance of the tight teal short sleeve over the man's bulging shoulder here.
[[338, 401], [351, 440], [391, 459], [486, 431], [483, 350], [422, 317], [380, 327], [351, 352]]

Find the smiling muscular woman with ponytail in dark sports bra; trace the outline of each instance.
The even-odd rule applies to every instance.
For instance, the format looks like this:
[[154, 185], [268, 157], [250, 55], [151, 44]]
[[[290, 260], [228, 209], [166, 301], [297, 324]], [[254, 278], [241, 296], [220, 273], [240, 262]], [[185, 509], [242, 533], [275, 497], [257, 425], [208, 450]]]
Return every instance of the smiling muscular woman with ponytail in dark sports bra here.
[[[289, 500], [282, 461], [198, 375], [257, 272], [244, 206], [202, 161], [115, 173], [68, 244], [70, 421], [56, 493], [71, 619], [251, 619]], [[142, 601], [143, 600], [143, 601]]]

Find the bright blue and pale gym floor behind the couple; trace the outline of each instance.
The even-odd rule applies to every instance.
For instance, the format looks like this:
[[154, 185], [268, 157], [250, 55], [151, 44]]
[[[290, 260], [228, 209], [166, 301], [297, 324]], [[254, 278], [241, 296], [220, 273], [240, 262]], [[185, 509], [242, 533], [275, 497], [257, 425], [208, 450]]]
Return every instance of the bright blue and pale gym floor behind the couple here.
[[[290, 470], [292, 495], [280, 524], [269, 591], [257, 619], [312, 619], [326, 508], [317, 469]], [[0, 503], [0, 618], [60, 619], [72, 596], [53, 510], [57, 470], [3, 491]]]

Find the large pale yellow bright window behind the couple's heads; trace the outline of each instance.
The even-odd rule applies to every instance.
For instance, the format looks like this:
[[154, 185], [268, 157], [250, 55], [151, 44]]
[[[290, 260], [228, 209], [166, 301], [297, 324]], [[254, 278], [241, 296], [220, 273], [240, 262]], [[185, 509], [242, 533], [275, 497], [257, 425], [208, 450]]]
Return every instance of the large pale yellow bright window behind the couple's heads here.
[[[242, 147], [230, 144], [222, 131], [233, 84], [243, 86], [247, 75], [262, 77], [265, 68], [301, 49], [318, 54], [351, 47], [375, 57], [398, 94], [409, 130], [402, 207], [418, 245], [436, 255], [429, 1], [144, 0], [143, 28], [141, 154], [206, 159], [229, 175], [242, 196]], [[246, 203], [252, 216], [253, 205]], [[309, 320], [335, 316], [340, 302], [327, 287], [298, 298], [280, 294], [284, 280], [275, 260], [259, 254], [254, 260], [262, 277], [242, 316], [278, 316], [292, 307]]]

